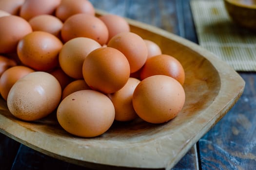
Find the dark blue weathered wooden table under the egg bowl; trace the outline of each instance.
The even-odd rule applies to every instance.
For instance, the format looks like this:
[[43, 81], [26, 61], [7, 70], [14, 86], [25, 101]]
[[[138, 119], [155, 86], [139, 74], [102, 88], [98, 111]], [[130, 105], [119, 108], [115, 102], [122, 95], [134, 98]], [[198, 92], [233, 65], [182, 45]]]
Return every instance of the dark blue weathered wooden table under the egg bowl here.
[[[90, 0], [95, 8], [167, 30], [197, 43], [190, 0]], [[256, 167], [256, 74], [235, 106], [177, 163], [174, 170], [254, 170]], [[34, 151], [0, 134], [0, 170], [84, 170]]]

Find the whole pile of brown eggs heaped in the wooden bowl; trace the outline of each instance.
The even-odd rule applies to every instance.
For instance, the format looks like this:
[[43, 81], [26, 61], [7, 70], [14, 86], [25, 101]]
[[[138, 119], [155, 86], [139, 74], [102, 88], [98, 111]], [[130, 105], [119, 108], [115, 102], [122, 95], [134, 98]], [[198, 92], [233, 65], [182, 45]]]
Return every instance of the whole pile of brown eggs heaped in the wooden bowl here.
[[185, 73], [117, 15], [89, 0], [0, 1], [0, 94], [18, 119], [57, 110], [67, 132], [105, 133], [114, 121], [163, 123], [184, 105]]

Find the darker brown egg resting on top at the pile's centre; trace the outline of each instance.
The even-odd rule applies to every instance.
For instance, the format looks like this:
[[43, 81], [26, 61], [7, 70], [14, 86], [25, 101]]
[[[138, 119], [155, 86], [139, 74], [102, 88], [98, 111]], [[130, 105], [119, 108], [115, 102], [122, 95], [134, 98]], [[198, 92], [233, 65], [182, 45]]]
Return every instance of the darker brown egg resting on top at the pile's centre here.
[[89, 53], [82, 67], [83, 78], [92, 89], [114, 93], [129, 79], [130, 66], [126, 57], [111, 47], [101, 47]]

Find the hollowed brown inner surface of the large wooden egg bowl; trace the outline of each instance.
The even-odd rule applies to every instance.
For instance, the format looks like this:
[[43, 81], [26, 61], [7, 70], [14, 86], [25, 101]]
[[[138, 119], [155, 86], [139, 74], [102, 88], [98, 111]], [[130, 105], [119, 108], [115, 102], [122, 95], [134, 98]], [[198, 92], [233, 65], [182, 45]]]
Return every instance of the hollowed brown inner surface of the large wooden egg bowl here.
[[[3, 100], [0, 100], [0, 113], [30, 131], [64, 137], [65, 140], [70, 141], [76, 138], [76, 141], [81, 143], [96, 140], [100, 144], [110, 143], [107, 147], [115, 147], [115, 145], [111, 146], [111, 141], [125, 145], [154, 140], [156, 137], [165, 136], [167, 133], [175, 132], [178, 128], [186, 126], [192, 119], [197, 119], [197, 116], [214, 101], [220, 89], [220, 78], [216, 68], [199, 53], [176, 41], [138, 27], [131, 26], [131, 31], [141, 35], [142, 38], [156, 42], [164, 54], [176, 57], [182, 64], [186, 76], [183, 85], [186, 101], [175, 119], [164, 124], [150, 124], [141, 119], [130, 122], [116, 121], [105, 134], [87, 139], [65, 132], [56, 119], [56, 113], [38, 121], [21, 121], [9, 113], [6, 102]], [[97, 145], [97, 143], [92, 145]]]

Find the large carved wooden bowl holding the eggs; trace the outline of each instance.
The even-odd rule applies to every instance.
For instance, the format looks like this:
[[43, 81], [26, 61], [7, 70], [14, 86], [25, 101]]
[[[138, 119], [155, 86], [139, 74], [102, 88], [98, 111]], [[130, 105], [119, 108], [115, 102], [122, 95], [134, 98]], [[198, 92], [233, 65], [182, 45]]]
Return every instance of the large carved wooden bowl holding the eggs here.
[[56, 113], [38, 121], [21, 121], [0, 100], [0, 132], [41, 153], [89, 168], [171, 169], [236, 103], [245, 82], [233, 68], [197, 44], [127, 20], [132, 32], [156, 42], [185, 69], [186, 101], [175, 119], [164, 124], [141, 119], [115, 122], [101, 136], [81, 138], [64, 131]]

